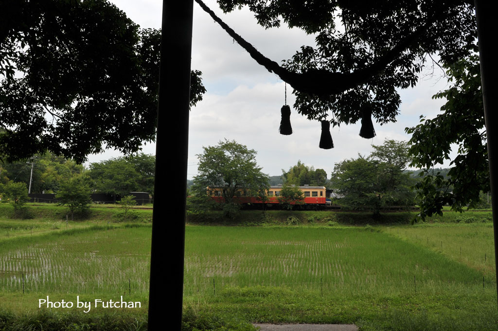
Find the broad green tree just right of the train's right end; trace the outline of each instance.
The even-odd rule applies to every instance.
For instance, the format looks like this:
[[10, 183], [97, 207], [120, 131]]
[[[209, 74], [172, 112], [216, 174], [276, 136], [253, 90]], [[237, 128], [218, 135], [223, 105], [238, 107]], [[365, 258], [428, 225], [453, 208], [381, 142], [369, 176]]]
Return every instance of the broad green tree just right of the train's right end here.
[[[393, 146], [399, 148], [391, 148]], [[344, 195], [340, 204], [352, 209], [372, 209], [375, 213], [384, 206], [412, 206], [414, 180], [402, 171], [408, 161], [397, 162], [407, 153], [406, 143], [386, 140], [373, 148], [367, 158], [359, 155], [357, 159], [335, 164], [331, 181], [334, 189]], [[393, 163], [383, 160], [393, 160]]]

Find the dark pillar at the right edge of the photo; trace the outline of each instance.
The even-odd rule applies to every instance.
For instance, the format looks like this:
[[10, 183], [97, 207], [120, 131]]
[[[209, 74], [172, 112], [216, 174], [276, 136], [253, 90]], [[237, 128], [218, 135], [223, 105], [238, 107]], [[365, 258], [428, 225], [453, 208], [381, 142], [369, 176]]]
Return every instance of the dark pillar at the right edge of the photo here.
[[[495, 128], [498, 126], [496, 93], [497, 59], [493, 50], [496, 44], [496, 9], [494, 1], [475, 0], [477, 33], [479, 41], [479, 57], [481, 62], [481, 80], [484, 102], [484, 116], [486, 120], [486, 134], [488, 138], [488, 158], [490, 163], [491, 179], [491, 206], [493, 207], [493, 227], [495, 233], [495, 261], [497, 266], [498, 285], [498, 173], [497, 148], [498, 136]], [[498, 295], [498, 286], [497, 286]], [[498, 298], [498, 297], [497, 297]], [[497, 301], [498, 303], [498, 301]]]

